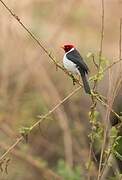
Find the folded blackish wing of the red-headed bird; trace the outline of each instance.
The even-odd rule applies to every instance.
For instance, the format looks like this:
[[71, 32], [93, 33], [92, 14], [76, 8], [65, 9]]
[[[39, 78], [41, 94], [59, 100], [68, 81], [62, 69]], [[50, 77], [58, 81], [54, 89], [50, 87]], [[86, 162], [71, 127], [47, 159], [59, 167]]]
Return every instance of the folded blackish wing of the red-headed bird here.
[[80, 53], [76, 49], [67, 53], [66, 57], [69, 60], [71, 60], [73, 63], [75, 63], [77, 67], [81, 68], [85, 73], [88, 74], [89, 72], [88, 66], [86, 65]]

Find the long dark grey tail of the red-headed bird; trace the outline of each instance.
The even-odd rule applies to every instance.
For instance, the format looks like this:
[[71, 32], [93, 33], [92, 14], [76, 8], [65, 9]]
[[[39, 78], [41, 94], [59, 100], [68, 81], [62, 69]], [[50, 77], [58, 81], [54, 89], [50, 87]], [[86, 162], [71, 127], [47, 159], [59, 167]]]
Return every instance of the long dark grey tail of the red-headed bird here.
[[82, 77], [85, 92], [87, 94], [91, 94], [91, 89], [90, 89], [86, 74], [84, 72], [82, 72], [82, 70], [80, 71], [80, 74], [81, 74], [81, 77]]

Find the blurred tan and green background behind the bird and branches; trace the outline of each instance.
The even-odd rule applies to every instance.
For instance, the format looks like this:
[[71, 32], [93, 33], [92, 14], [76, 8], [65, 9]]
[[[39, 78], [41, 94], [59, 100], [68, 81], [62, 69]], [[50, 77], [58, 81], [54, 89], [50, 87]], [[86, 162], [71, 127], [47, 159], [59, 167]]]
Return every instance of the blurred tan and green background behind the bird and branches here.
[[[62, 63], [62, 44], [72, 43], [90, 68], [89, 52], [100, 46], [101, 1], [98, 0], [6, 0], [8, 6], [40, 42]], [[103, 55], [112, 63], [119, 58], [119, 19], [121, 0], [105, 0]], [[49, 57], [40, 50], [0, 3], [0, 154], [19, 136], [19, 130], [38, 121], [76, 87], [64, 72], [56, 71]], [[121, 66], [111, 72], [116, 82]], [[106, 95], [108, 75], [99, 85]], [[89, 117], [91, 100], [83, 90], [67, 100], [11, 154], [8, 174], [1, 180], [87, 179]], [[98, 107], [99, 108], [99, 107]], [[104, 109], [99, 108], [101, 117]], [[102, 119], [102, 118], [101, 118]], [[96, 150], [97, 151], [97, 150]], [[68, 164], [68, 166], [67, 166]], [[69, 167], [73, 167], [70, 169]], [[97, 166], [92, 167], [92, 176]]]

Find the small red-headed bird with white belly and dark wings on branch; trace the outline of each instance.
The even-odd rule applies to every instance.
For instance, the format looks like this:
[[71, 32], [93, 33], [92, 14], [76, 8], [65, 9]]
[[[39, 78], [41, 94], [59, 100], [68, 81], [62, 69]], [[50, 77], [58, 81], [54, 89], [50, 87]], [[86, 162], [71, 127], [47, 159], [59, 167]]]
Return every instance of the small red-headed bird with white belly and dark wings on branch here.
[[64, 49], [65, 54], [63, 57], [64, 68], [73, 74], [78, 74], [82, 78], [84, 90], [87, 94], [91, 94], [91, 89], [87, 80], [89, 68], [84, 62], [82, 56], [72, 44], [65, 44], [61, 46]]

